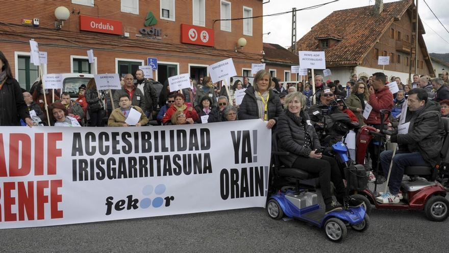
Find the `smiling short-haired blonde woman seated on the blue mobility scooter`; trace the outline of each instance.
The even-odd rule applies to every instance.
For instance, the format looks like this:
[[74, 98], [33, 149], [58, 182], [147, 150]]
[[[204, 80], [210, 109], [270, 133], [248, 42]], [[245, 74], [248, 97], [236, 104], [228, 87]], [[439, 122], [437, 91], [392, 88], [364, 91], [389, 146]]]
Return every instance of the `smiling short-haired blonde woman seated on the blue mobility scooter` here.
[[[326, 205], [326, 213], [341, 211], [344, 199], [344, 184], [337, 161], [317, 152], [320, 147], [318, 136], [310, 123], [306, 109], [306, 96], [300, 92], [288, 94], [285, 99], [285, 113], [279, 116], [279, 150], [290, 155], [280, 156], [281, 162], [290, 168], [298, 168], [319, 175], [321, 194]], [[332, 199], [331, 184], [336, 188], [337, 203]], [[351, 207], [363, 202], [350, 198]]]

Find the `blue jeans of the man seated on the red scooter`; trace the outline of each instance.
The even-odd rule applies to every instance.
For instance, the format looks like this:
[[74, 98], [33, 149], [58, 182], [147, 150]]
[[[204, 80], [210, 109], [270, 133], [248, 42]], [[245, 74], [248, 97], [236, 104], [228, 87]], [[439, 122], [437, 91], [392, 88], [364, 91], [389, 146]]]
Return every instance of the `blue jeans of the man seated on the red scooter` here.
[[[381, 153], [381, 165], [385, 177], [388, 176], [388, 170], [390, 168], [391, 157], [393, 156], [392, 150], [387, 150]], [[402, 177], [404, 176], [404, 169], [407, 166], [431, 166], [421, 156], [419, 152], [408, 153], [404, 151], [396, 151], [393, 157], [393, 166], [391, 167], [390, 180], [388, 182], [388, 188], [390, 193], [395, 195], [399, 193], [401, 188]]]

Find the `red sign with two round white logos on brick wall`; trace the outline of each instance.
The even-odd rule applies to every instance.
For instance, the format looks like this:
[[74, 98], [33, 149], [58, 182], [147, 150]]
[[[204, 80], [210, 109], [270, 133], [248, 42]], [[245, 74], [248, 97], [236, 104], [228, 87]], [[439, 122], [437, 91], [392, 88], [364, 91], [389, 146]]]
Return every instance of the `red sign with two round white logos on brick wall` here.
[[214, 30], [181, 24], [181, 43], [214, 46]]

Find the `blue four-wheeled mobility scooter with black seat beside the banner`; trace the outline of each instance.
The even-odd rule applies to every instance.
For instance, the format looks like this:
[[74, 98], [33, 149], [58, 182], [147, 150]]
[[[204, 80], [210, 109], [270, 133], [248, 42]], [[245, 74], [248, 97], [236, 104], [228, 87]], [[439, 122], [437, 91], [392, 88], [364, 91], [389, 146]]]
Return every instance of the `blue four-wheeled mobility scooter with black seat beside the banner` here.
[[[323, 228], [327, 238], [333, 242], [343, 241], [347, 234], [347, 226], [355, 231], [363, 232], [369, 226], [369, 217], [364, 206], [358, 208], [348, 207], [348, 190], [364, 190], [367, 185], [366, 171], [363, 166], [353, 166], [347, 156], [346, 146], [338, 142], [332, 146], [332, 151], [338, 161], [345, 165], [344, 171], [347, 188], [342, 211], [325, 214], [325, 210], [318, 205], [318, 196], [308, 189], [301, 189], [301, 180], [316, 178], [317, 175], [296, 168], [286, 168], [280, 164], [280, 155], [289, 155], [289, 152], [278, 151], [277, 134], [273, 134], [272, 164], [273, 183], [275, 192], [268, 198], [267, 212], [273, 219], [281, 219], [284, 215], [290, 218], [305, 221], [309, 224]], [[283, 179], [293, 179], [295, 187], [286, 187], [279, 183]], [[352, 180], [352, 181], [351, 181]], [[278, 181], [278, 182], [277, 182]]]

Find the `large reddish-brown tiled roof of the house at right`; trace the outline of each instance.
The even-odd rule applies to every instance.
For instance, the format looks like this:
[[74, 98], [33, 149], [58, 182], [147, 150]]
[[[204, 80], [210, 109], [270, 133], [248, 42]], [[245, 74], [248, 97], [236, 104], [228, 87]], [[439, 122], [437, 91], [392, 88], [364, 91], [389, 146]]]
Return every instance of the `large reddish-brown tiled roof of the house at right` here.
[[332, 12], [296, 42], [297, 51], [321, 51], [317, 38], [340, 38], [326, 49], [326, 66], [358, 65], [395, 17], [402, 17], [412, 4], [410, 0], [384, 4], [379, 16], [372, 15], [374, 6]]

